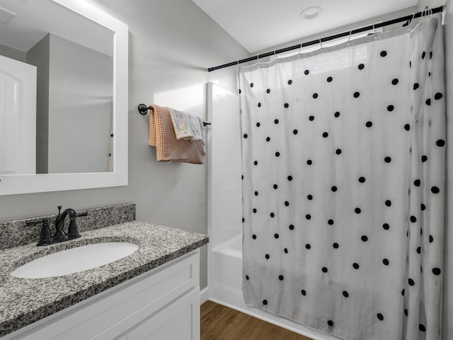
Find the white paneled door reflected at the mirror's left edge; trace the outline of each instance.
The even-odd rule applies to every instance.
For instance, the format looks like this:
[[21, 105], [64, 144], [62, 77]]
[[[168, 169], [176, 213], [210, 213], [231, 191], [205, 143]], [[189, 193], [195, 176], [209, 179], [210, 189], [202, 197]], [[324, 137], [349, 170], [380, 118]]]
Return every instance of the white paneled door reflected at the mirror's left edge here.
[[0, 55], [0, 174], [36, 173], [36, 67]]

